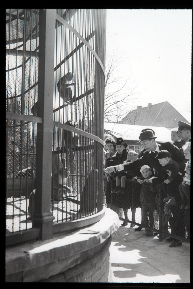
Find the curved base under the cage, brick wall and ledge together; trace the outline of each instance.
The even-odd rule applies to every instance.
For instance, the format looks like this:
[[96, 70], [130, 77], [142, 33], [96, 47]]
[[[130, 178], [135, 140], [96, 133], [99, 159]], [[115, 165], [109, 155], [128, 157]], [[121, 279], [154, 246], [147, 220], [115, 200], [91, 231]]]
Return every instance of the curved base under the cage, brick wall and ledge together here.
[[5, 281], [112, 283], [109, 247], [119, 226], [118, 215], [108, 208], [87, 227], [8, 246]]

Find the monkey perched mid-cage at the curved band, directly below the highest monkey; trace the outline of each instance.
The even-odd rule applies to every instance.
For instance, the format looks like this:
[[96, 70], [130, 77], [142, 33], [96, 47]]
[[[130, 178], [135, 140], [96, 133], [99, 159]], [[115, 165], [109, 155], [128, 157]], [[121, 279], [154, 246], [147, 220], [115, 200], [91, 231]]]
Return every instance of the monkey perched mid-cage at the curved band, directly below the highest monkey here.
[[[78, 125], [77, 123], [73, 123], [70, 120], [66, 121], [64, 124], [73, 127], [77, 127]], [[65, 141], [65, 146], [70, 153], [71, 160], [73, 160], [74, 162], [75, 161], [74, 149], [79, 146], [78, 134], [75, 134], [73, 131], [67, 131], [63, 129], [63, 138]]]

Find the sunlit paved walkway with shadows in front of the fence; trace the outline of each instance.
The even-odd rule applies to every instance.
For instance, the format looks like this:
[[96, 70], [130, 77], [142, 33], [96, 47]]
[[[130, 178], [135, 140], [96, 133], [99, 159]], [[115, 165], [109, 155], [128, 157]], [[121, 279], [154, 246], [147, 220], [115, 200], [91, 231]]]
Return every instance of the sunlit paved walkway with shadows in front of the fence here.
[[190, 243], [171, 248], [136, 227], [120, 226], [112, 234], [113, 283], [190, 283]]

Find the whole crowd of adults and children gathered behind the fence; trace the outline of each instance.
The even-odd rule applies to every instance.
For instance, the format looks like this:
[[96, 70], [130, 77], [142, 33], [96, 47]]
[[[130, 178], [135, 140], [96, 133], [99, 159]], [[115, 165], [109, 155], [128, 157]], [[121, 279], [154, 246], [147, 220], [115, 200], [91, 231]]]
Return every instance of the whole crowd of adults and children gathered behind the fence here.
[[[155, 209], [161, 216], [166, 235], [190, 239], [190, 148], [191, 126], [178, 121], [171, 130], [172, 142], [156, 142], [155, 131], [143, 129], [139, 140], [143, 149], [138, 153], [128, 149], [122, 138], [105, 139], [107, 152], [104, 161], [104, 190], [107, 207], [128, 220], [131, 209], [131, 227], [135, 226], [136, 208], [141, 208], [141, 226], [145, 236], [152, 236], [155, 227]], [[128, 181], [129, 182], [129, 186]], [[131, 181], [132, 180], [132, 181]], [[131, 189], [135, 183], [135, 192]], [[137, 184], [138, 183], [138, 184]], [[132, 185], [134, 186], [134, 184]], [[133, 188], [133, 187], [132, 187]], [[124, 221], [123, 226], [128, 223]], [[182, 245], [182, 240], [169, 237], [170, 247]]]

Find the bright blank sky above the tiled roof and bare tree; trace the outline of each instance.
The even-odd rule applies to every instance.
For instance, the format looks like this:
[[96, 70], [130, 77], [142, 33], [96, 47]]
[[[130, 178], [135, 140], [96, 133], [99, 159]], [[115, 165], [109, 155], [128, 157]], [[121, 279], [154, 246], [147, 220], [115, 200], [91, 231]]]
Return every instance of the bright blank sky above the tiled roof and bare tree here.
[[128, 59], [140, 91], [136, 102], [168, 101], [190, 121], [192, 10], [107, 9], [106, 52]]

